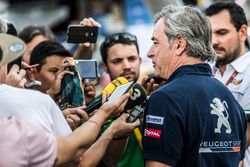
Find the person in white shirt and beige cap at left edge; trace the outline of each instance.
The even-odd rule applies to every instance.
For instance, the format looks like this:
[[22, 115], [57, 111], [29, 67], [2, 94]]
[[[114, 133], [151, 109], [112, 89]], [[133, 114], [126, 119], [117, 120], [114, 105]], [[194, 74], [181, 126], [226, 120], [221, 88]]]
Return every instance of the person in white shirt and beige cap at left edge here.
[[[0, 38], [0, 47], [2, 48], [0, 77], [2, 77], [6, 71], [4, 65], [20, 57], [26, 45], [23, 41], [7, 34], [0, 34]], [[48, 95], [2, 83], [0, 84], [0, 93], [0, 116], [16, 116], [27, 122], [40, 125], [50, 133], [61, 136], [68, 136], [72, 132], [62, 111]]]

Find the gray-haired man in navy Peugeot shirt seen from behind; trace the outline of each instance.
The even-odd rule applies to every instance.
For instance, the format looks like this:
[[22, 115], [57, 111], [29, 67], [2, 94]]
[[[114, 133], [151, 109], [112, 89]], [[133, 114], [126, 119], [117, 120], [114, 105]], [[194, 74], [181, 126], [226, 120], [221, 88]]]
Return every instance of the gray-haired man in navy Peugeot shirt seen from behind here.
[[244, 111], [212, 77], [211, 38], [209, 20], [193, 7], [166, 6], [156, 15], [148, 57], [167, 82], [145, 108], [146, 167], [238, 166], [244, 158]]

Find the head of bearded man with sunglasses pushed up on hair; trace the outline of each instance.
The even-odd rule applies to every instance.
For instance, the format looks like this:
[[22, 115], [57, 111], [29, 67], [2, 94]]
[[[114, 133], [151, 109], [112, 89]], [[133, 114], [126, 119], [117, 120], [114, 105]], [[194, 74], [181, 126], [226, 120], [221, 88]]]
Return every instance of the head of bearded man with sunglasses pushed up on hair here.
[[100, 48], [103, 69], [113, 80], [125, 77], [137, 81], [140, 73], [141, 57], [136, 36], [117, 33], [107, 36]]

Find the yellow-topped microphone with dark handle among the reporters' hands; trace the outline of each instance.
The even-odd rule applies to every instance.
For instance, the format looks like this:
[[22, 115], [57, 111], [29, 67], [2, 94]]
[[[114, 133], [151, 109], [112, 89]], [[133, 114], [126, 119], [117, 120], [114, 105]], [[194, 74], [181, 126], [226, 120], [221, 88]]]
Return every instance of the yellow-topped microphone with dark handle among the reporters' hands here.
[[102, 93], [94, 98], [93, 101], [91, 101], [85, 111], [90, 114], [94, 110], [98, 109], [102, 105], [102, 95], [104, 94], [112, 94], [116, 87], [128, 83], [128, 80], [124, 77], [118, 77], [112, 82], [110, 82], [103, 90]]

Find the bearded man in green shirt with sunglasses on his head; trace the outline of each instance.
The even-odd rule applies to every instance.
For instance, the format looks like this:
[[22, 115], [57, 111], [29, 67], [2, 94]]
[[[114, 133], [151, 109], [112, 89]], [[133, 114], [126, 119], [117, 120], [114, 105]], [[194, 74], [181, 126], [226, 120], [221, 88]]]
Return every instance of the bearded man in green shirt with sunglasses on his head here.
[[[102, 67], [109, 74], [111, 80], [117, 77], [125, 77], [128, 81], [136, 82], [138, 80], [141, 57], [136, 36], [127, 32], [109, 35], [101, 44], [100, 52], [103, 61]], [[140, 136], [141, 132], [138, 128], [131, 133], [128, 140], [113, 141], [113, 144], [110, 145], [110, 150], [112, 148], [115, 150], [111, 154], [112, 157], [117, 155], [118, 144], [126, 146], [125, 152], [116, 166], [144, 166]], [[127, 145], [126, 142], [128, 142]], [[104, 162], [107, 161], [104, 159]]]

